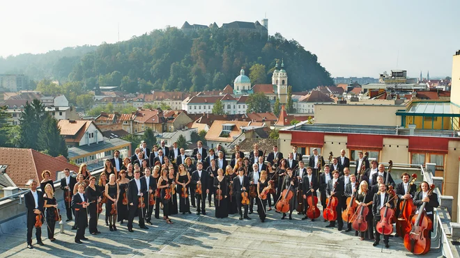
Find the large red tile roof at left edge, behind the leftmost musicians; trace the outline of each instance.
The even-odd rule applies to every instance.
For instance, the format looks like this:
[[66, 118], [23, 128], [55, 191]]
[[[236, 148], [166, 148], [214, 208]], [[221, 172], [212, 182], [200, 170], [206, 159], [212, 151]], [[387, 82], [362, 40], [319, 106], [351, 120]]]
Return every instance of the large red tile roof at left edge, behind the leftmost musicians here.
[[51, 179], [56, 181], [56, 172], [68, 168], [78, 172], [78, 167], [68, 163], [63, 156], [52, 157], [32, 149], [0, 147], [0, 164], [7, 165], [6, 174], [21, 188], [26, 187], [30, 179], [40, 182], [43, 170], [51, 172]]

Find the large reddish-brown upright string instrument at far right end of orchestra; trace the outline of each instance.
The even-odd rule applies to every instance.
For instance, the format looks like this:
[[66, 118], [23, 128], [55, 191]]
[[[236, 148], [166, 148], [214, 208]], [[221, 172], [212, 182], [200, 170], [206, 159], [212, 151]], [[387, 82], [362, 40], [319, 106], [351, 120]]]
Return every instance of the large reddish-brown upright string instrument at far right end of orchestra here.
[[[427, 197], [430, 197], [433, 191], [434, 184], [430, 186]], [[411, 231], [404, 236], [404, 246], [414, 255], [424, 255], [431, 248], [428, 232], [433, 228], [433, 221], [427, 216], [427, 211], [424, 210], [425, 206], [427, 206], [427, 202], [423, 202], [418, 209], [417, 216], [412, 217]]]

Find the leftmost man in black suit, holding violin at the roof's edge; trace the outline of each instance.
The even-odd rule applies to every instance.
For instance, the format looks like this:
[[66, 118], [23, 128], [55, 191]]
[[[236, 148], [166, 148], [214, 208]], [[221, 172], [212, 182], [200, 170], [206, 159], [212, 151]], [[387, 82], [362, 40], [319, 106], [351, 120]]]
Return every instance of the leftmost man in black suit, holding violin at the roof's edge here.
[[[27, 248], [32, 249], [32, 230], [35, 227], [36, 223], [36, 216], [38, 214], [43, 215], [43, 205], [45, 204], [45, 200], [43, 199], [43, 193], [37, 191], [37, 181], [35, 179], [32, 180], [31, 183], [31, 191], [24, 195], [24, 203], [26, 204], [27, 209]], [[43, 216], [44, 218], [45, 216]], [[42, 223], [43, 223], [42, 218]], [[43, 245], [42, 242], [42, 228], [36, 228], [36, 238], [37, 243], [39, 245]]]

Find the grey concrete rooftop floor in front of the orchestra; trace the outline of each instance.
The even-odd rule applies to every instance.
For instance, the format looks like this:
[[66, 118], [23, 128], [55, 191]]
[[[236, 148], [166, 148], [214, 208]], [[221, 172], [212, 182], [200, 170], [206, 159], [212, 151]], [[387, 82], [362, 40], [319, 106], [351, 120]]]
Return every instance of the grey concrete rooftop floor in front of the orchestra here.
[[[17, 218], [9, 233], [0, 234], [0, 257], [415, 257], [400, 238], [390, 238], [390, 249], [381, 250], [383, 241], [373, 247], [372, 241], [360, 241], [354, 232], [325, 228], [323, 220], [300, 220], [296, 211], [293, 220], [280, 220], [281, 214], [268, 211], [265, 223], [257, 213], [250, 215], [252, 220], [238, 220], [236, 215], [214, 218], [214, 207], [206, 211], [207, 216], [171, 216], [173, 225], [154, 220], [149, 229], [140, 229], [135, 220], [135, 233], [128, 232], [126, 222], [110, 232], [101, 216], [102, 234], [86, 231], [89, 240], [83, 245], [74, 243], [73, 221], [64, 225], [63, 234], [56, 225], [55, 242], [47, 239], [43, 225], [45, 245], [35, 245], [33, 239], [32, 250], [26, 248], [24, 218]], [[441, 256], [431, 250], [423, 257]]]

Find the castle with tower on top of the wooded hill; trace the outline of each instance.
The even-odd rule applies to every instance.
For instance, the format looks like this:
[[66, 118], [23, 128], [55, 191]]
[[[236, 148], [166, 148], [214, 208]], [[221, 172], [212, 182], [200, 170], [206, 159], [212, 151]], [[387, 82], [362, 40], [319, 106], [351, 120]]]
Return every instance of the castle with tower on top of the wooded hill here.
[[181, 30], [185, 34], [190, 34], [193, 31], [199, 31], [200, 29], [235, 29], [240, 32], [256, 32], [260, 33], [261, 35], [268, 38], [268, 19], [262, 19], [262, 24], [259, 21], [256, 22], [230, 22], [227, 24], [222, 24], [222, 27], [217, 26], [214, 22], [213, 24], [209, 24], [209, 26], [201, 25], [201, 24], [193, 24], [190, 25], [188, 22], [184, 22], [181, 27]]

